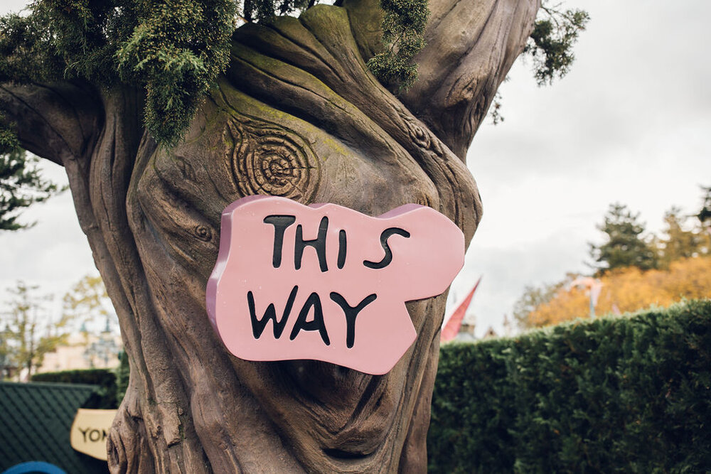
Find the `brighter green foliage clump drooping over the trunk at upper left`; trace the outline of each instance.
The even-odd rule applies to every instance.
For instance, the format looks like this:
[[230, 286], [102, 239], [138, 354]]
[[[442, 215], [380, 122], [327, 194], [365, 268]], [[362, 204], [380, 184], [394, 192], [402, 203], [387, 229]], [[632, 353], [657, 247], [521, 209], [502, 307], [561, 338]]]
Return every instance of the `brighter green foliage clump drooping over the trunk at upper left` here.
[[146, 126], [173, 145], [228, 64], [231, 0], [132, 2], [136, 24], [116, 52], [123, 80], [146, 89]]

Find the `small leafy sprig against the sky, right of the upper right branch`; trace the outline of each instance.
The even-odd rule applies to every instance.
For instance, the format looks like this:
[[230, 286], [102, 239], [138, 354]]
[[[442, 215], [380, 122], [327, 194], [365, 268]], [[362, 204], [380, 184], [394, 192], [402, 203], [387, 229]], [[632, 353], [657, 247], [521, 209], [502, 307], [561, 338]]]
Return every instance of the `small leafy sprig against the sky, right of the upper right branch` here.
[[543, 1], [533, 32], [523, 52], [533, 59], [538, 85], [550, 84], [570, 70], [572, 48], [590, 16], [583, 10], [562, 10], [561, 4]]

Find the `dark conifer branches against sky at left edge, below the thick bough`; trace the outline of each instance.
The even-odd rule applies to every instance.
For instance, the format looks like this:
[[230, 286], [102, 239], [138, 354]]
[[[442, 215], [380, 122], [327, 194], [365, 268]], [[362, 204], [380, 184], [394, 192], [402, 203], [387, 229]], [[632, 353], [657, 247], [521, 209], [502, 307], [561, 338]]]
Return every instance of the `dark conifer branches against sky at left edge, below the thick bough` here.
[[[9, 143], [12, 143], [11, 138]], [[37, 168], [38, 161], [38, 158], [18, 147], [0, 153], [0, 230], [31, 227], [31, 224], [18, 222], [21, 211], [63, 191], [55, 183], [42, 178]]]

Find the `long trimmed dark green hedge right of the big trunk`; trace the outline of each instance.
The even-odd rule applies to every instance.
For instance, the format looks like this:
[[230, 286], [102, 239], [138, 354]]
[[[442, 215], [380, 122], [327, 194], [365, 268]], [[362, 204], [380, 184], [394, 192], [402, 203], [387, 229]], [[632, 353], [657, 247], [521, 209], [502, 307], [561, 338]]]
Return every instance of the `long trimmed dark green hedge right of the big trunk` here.
[[711, 301], [446, 345], [431, 473], [711, 470]]

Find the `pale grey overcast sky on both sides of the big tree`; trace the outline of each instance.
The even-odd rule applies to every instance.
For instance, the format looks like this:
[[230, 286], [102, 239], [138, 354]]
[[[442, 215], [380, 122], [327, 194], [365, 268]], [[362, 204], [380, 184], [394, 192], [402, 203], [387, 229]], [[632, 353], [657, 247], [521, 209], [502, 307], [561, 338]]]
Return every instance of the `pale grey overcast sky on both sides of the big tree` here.
[[[23, 3], [3, 1], [0, 13]], [[610, 203], [658, 231], [665, 210], [697, 212], [699, 185], [711, 185], [711, 2], [565, 6], [592, 18], [570, 74], [537, 87], [519, 60], [501, 87], [506, 121], [484, 124], [469, 149], [484, 216], [452, 288], [461, 298], [483, 276], [470, 311], [478, 335], [501, 333], [525, 285], [589, 271], [587, 242], [600, 242], [595, 225]], [[44, 168], [66, 182], [59, 166]], [[69, 193], [24, 219], [38, 224], [0, 234], [0, 289], [23, 279], [60, 299], [96, 273]]]

